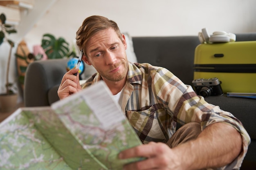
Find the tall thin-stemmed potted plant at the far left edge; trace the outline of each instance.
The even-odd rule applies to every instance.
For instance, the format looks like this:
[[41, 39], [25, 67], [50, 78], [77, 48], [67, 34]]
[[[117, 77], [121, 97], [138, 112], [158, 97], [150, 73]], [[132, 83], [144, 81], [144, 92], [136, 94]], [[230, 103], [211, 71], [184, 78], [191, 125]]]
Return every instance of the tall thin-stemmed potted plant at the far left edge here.
[[14, 42], [8, 39], [9, 34], [16, 33], [17, 31], [13, 28], [13, 26], [9, 24], [5, 24], [5, 21], [6, 21], [6, 17], [2, 13], [0, 15], [0, 45], [3, 42], [8, 42], [8, 44], [10, 45], [9, 55], [7, 59], [6, 84], [5, 84], [6, 91], [5, 93], [0, 94], [0, 108], [1, 108], [1, 111], [3, 112], [10, 111], [11, 109], [15, 108], [17, 97], [18, 97], [18, 95], [13, 91], [14, 90], [13, 83], [9, 82], [9, 67], [10, 67], [10, 61], [11, 61], [11, 51], [14, 47]]

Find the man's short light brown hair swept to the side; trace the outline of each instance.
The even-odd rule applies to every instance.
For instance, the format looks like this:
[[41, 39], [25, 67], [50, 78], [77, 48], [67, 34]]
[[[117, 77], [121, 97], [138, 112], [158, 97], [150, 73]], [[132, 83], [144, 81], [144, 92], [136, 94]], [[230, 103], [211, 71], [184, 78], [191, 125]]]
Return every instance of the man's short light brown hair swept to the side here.
[[[120, 40], [122, 40], [122, 34], [117, 26], [117, 23], [109, 20], [106, 17], [93, 15], [85, 18], [83, 24], [76, 31], [76, 44], [80, 50], [85, 50], [88, 40], [98, 33], [99, 31], [112, 28], [116, 31]], [[85, 51], [84, 51], [85, 54]], [[86, 56], [86, 54], [85, 54]], [[86, 56], [87, 57], [87, 56]]]

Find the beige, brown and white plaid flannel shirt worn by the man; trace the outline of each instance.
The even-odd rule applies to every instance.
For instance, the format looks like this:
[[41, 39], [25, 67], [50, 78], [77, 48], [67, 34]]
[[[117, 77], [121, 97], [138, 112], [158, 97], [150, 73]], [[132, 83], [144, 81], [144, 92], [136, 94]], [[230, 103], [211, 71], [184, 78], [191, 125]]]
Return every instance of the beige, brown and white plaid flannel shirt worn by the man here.
[[[100, 80], [101, 76], [96, 73], [83, 88]], [[243, 151], [229, 165], [232, 169], [239, 169], [250, 143], [242, 123], [231, 113], [208, 104], [166, 68], [148, 63], [129, 63], [121, 108], [144, 144], [166, 143], [176, 130], [176, 122], [198, 122], [202, 130], [216, 122], [230, 124], [243, 139]]]

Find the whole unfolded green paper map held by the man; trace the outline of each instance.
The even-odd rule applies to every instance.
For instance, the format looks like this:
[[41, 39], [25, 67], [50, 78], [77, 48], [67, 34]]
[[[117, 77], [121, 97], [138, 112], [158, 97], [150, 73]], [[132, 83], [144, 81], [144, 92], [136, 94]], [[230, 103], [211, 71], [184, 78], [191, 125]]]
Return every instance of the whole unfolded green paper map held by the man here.
[[2, 123], [1, 170], [119, 170], [141, 160], [118, 159], [120, 151], [141, 141], [104, 83], [56, 102], [52, 108], [19, 109]]

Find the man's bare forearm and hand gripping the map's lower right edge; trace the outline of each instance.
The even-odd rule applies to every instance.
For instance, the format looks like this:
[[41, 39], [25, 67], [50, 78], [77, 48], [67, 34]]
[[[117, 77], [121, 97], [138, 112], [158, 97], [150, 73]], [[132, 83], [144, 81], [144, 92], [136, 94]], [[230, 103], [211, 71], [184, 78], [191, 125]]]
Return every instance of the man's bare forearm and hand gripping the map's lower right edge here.
[[124, 170], [196, 170], [223, 167], [234, 161], [242, 150], [240, 133], [232, 126], [220, 122], [207, 126], [195, 140], [174, 148], [150, 142], [120, 152], [119, 158], [147, 158], [125, 165]]

